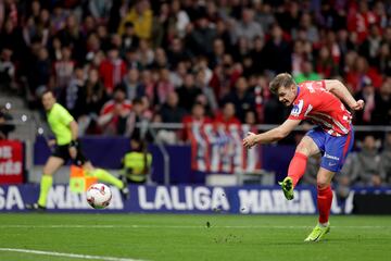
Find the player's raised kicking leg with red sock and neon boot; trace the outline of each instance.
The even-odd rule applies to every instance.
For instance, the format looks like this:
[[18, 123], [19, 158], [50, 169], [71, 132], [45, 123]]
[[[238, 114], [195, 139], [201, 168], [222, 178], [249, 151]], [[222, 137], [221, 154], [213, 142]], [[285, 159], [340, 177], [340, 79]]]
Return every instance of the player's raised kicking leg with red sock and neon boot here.
[[304, 136], [298, 145], [294, 156], [289, 164], [288, 176], [283, 178], [282, 182], [278, 183], [288, 200], [293, 199], [293, 188], [304, 175], [308, 157], [319, 152], [320, 150], [317, 144], [308, 135]]

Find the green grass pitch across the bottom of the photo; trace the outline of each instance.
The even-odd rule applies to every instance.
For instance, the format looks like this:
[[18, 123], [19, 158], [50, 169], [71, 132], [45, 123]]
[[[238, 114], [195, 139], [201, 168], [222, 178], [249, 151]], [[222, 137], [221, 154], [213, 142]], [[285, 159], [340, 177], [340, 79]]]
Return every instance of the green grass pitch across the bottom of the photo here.
[[316, 220], [0, 214], [0, 260], [391, 260], [390, 216], [331, 216], [324, 241], [303, 243]]

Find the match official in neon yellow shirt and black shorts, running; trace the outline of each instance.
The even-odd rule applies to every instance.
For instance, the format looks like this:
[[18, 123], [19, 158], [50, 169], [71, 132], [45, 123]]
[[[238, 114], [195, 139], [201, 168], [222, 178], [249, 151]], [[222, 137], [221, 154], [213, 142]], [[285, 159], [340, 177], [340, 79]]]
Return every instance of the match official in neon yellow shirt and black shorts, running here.
[[53, 183], [53, 174], [68, 160], [72, 160], [78, 166], [83, 166], [87, 175], [116, 186], [121, 189], [122, 195], [127, 198], [129, 194], [127, 184], [105, 170], [93, 167], [91, 162], [85, 158], [77, 139], [77, 122], [64, 107], [56, 103], [53, 92], [50, 90], [45, 91], [41, 96], [41, 101], [47, 112], [49, 126], [55, 136], [56, 146], [54, 152], [49, 157], [43, 166], [38, 201], [26, 204], [26, 209], [46, 209], [48, 192]]

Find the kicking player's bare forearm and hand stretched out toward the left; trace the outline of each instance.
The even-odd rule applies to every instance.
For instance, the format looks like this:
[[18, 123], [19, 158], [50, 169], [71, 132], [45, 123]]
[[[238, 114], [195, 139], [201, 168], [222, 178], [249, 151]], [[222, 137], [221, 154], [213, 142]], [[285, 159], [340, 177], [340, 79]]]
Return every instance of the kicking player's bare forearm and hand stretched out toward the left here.
[[288, 136], [299, 124], [301, 120], [290, 120], [285, 121], [280, 126], [267, 130], [262, 134], [249, 133], [249, 135], [243, 139], [243, 146], [251, 148], [257, 144], [270, 144], [277, 140], [280, 140]]

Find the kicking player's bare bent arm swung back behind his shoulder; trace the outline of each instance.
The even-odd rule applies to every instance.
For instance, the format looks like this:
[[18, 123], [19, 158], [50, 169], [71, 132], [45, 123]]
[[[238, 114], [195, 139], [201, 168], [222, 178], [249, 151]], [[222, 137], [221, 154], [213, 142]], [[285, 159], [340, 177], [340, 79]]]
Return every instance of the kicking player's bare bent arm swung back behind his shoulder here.
[[341, 101], [348, 104], [352, 110], [360, 111], [364, 109], [364, 101], [356, 101], [348, 88], [338, 79], [325, 79], [326, 90], [337, 96]]

